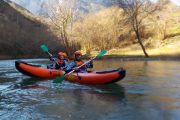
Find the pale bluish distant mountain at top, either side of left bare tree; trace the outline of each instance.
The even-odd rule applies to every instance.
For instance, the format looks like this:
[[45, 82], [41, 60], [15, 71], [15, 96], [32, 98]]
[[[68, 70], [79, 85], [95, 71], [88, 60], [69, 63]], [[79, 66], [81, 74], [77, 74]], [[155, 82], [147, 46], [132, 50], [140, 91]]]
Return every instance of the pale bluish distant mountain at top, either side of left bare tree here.
[[[16, 2], [17, 4], [23, 6], [24, 8], [30, 10], [33, 14], [47, 17], [48, 9], [46, 5], [56, 6], [60, 0], [8, 0]], [[116, 4], [117, 0], [76, 0], [75, 10], [76, 16], [82, 14], [87, 14], [89, 12], [94, 12], [101, 10], [105, 7], [112, 6]]]

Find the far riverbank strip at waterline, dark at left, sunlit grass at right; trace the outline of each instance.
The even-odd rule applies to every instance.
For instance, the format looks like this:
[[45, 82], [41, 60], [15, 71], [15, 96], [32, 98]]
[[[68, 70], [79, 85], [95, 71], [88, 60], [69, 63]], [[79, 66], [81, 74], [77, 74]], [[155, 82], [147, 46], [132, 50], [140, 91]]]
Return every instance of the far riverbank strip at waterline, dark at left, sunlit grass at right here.
[[[140, 48], [139, 44], [130, 45], [128, 47], [122, 48], [114, 48], [111, 50], [107, 50], [107, 53], [103, 57], [98, 57], [97, 59], [118, 59], [118, 60], [180, 60], [180, 36], [173, 37], [162, 44], [157, 45], [154, 48], [146, 49], [149, 54], [149, 58], [144, 57], [143, 51]], [[99, 51], [92, 51], [91, 55], [86, 55], [84, 51], [83, 59], [89, 59], [97, 55]], [[54, 55], [56, 53], [53, 53]], [[8, 56], [8, 55], [0, 55], [0, 60], [7, 59], [37, 59], [37, 58], [48, 58], [45, 54], [41, 54], [39, 56], [34, 55], [26, 55], [26, 56]], [[71, 57], [73, 59], [73, 57]]]

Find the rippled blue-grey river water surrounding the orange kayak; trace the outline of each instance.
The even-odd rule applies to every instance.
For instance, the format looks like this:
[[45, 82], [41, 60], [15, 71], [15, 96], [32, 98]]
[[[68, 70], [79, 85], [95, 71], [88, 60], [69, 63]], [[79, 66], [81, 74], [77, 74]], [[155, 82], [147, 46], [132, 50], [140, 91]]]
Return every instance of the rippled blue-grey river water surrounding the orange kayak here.
[[180, 119], [179, 61], [94, 61], [94, 69], [127, 70], [122, 81], [102, 86], [29, 78], [14, 61], [0, 61], [1, 120]]

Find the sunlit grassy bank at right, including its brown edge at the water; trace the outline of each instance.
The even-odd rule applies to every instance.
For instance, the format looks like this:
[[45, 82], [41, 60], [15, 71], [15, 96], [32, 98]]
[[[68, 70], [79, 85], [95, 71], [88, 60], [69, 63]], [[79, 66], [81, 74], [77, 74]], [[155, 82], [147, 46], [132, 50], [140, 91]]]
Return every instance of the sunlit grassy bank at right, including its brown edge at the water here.
[[[180, 36], [169, 38], [165, 42], [159, 43], [157, 47], [146, 47], [150, 56], [148, 59], [180, 59]], [[98, 51], [91, 52], [91, 56]], [[122, 59], [144, 59], [144, 53], [139, 44], [128, 47], [114, 48], [108, 50], [105, 58], [122, 58]]]

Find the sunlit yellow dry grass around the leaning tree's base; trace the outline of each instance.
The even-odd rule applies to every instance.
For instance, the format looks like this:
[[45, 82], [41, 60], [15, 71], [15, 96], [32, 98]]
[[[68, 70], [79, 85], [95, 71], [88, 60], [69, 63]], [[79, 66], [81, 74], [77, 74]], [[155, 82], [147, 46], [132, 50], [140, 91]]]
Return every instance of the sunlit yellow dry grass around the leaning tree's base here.
[[[176, 36], [168, 40], [169, 43], [162, 44], [158, 48], [149, 48], [147, 52], [150, 56], [179, 56], [180, 55], [180, 36]], [[92, 53], [95, 54], [95, 53]], [[131, 45], [126, 48], [118, 48], [109, 50], [107, 55], [118, 56], [143, 56], [143, 52], [139, 45]]]

